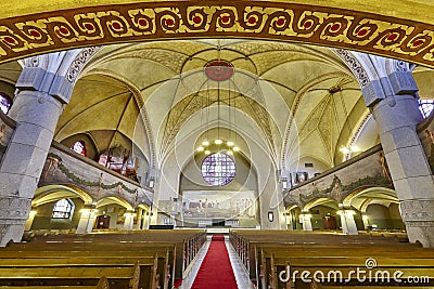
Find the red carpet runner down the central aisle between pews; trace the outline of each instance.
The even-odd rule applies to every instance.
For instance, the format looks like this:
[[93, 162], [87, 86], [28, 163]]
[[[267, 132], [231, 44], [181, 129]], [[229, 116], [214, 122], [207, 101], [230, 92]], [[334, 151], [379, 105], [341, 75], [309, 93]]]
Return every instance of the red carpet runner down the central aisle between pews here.
[[225, 236], [213, 236], [208, 252], [199, 268], [192, 289], [238, 289]]

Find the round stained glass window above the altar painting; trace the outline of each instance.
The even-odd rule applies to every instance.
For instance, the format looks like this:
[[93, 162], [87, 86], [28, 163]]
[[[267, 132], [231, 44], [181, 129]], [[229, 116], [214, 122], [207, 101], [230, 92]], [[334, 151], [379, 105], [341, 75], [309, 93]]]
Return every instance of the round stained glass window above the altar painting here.
[[212, 186], [227, 185], [235, 176], [235, 163], [222, 153], [209, 155], [202, 162], [202, 176]]

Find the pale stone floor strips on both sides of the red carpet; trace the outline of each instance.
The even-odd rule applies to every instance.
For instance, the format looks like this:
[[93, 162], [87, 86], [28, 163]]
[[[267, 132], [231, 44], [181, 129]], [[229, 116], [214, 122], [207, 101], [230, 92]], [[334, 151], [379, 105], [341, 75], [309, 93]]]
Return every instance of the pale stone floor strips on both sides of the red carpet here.
[[[205, 246], [197, 253], [197, 258], [196, 258], [192, 268], [190, 270], [188, 276], [182, 281], [182, 286], [180, 287], [180, 289], [189, 289], [193, 285], [194, 278], [196, 277], [199, 268], [201, 267], [202, 261], [204, 260], [206, 252], [209, 248], [210, 238], [212, 238], [210, 236], [207, 237], [207, 241], [206, 241]], [[229, 242], [228, 236], [226, 236], [225, 244], [226, 244], [226, 248], [228, 249], [229, 259], [230, 259], [230, 262], [232, 265], [233, 274], [235, 275], [238, 288], [239, 289], [254, 289], [255, 287], [252, 285], [246, 272], [243, 270], [243, 265], [240, 262], [235, 250], [232, 248], [232, 245]]]

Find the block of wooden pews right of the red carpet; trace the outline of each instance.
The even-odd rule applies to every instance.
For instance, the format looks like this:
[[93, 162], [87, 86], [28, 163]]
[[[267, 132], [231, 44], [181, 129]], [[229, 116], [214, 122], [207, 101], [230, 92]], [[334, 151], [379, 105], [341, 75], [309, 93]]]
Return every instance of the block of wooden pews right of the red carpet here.
[[[434, 250], [398, 242], [394, 236], [237, 231], [231, 232], [230, 240], [240, 259], [248, 260], [243, 264], [258, 288], [290, 288], [290, 283], [279, 280], [279, 273], [288, 265], [293, 271], [310, 274], [340, 270], [345, 275], [350, 270], [363, 268], [369, 257], [375, 258], [379, 265], [379, 268], [372, 268], [373, 274], [381, 270], [403, 270], [403, 278], [434, 278]], [[299, 281], [292, 286], [310, 288], [309, 284]]]

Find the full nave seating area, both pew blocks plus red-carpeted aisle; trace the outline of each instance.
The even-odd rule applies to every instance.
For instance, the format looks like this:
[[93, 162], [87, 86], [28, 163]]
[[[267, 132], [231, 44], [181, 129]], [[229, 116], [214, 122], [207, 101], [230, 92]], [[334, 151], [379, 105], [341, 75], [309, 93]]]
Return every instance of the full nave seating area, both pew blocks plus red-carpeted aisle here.
[[434, 286], [434, 250], [392, 232], [108, 231], [35, 236], [0, 255], [3, 289]]

